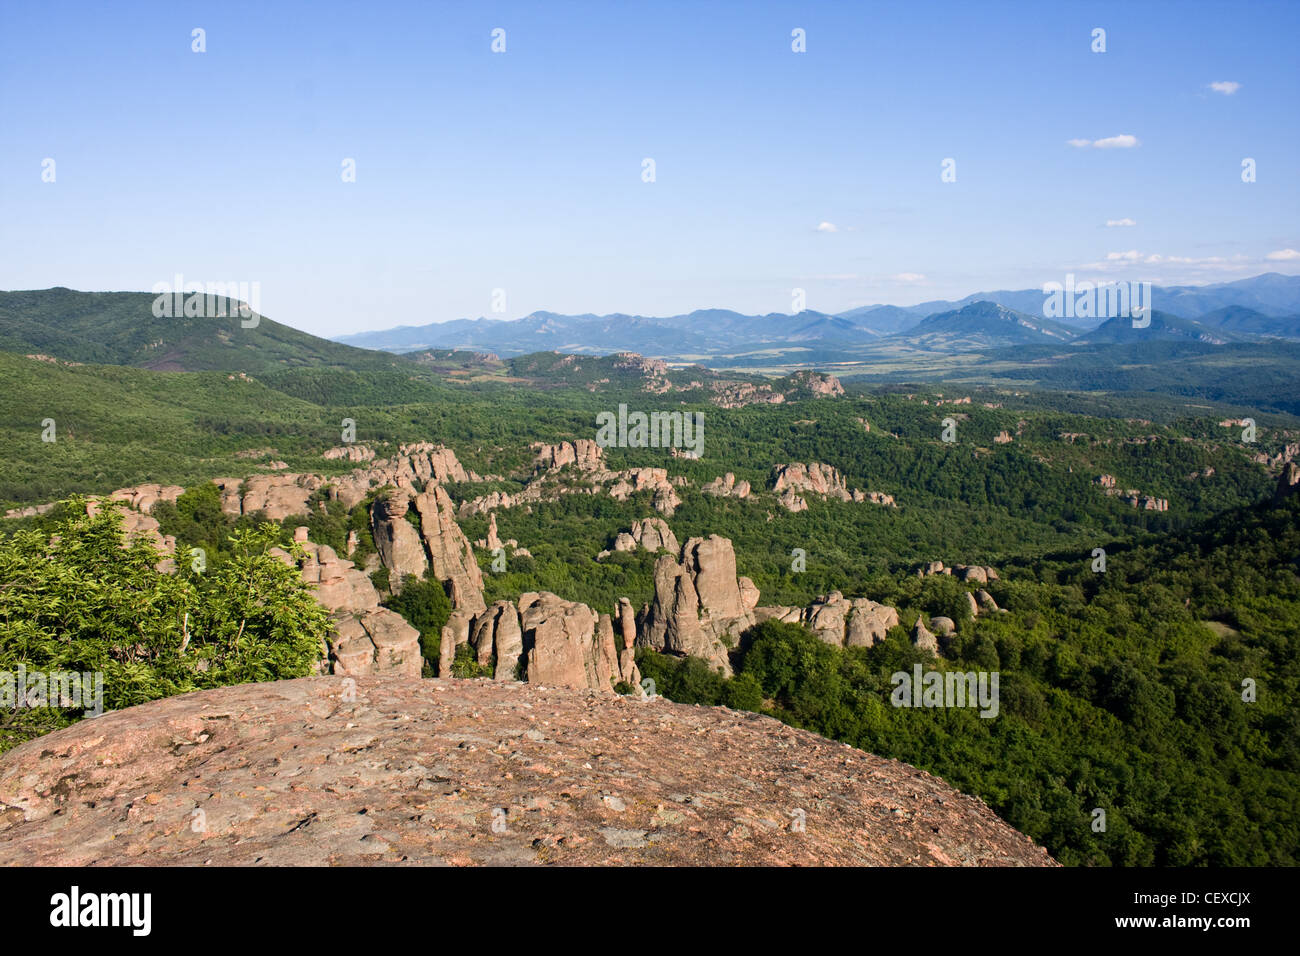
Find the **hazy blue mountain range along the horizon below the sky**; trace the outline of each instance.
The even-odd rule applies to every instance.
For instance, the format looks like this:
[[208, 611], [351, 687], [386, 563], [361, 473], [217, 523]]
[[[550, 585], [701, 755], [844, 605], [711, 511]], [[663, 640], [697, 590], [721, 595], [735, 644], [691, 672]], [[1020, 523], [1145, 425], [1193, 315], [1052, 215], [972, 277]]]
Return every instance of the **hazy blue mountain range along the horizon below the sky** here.
[[[1152, 300], [1162, 313], [1147, 329], [1131, 332], [1102, 319], [1045, 319], [1037, 289], [974, 293], [956, 302], [916, 306], [862, 306], [838, 315], [803, 311], [744, 315], [697, 310], [684, 315], [560, 315], [533, 312], [516, 320], [458, 319], [339, 336], [337, 342], [394, 352], [473, 349], [498, 355], [554, 350], [578, 354], [636, 351], [663, 359], [737, 359], [770, 352], [823, 356], [829, 351], [975, 351], [1014, 345], [1148, 341], [1300, 339], [1300, 276], [1268, 273], [1209, 286], [1156, 286]], [[1186, 323], [1192, 323], [1187, 325]], [[1117, 338], [1117, 336], [1123, 336]]]

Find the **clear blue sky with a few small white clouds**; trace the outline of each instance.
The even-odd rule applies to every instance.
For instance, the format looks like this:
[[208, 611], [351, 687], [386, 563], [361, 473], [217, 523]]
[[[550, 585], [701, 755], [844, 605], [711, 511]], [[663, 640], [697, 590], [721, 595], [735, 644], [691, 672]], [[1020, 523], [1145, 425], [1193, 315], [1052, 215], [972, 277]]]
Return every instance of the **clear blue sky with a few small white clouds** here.
[[1297, 3], [5, 0], [0, 289], [256, 281], [341, 334], [494, 289], [836, 312], [1300, 273], [1297, 35]]

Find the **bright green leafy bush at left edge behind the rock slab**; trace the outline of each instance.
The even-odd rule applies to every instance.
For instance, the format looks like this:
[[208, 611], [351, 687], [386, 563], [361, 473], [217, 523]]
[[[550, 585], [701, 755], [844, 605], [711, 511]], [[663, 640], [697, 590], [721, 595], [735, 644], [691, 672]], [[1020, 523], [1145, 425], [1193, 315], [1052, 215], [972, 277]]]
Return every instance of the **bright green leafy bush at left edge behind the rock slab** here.
[[[203, 499], [186, 502], [186, 512], [202, 524]], [[280, 542], [278, 525], [234, 531], [202, 574], [188, 564], [165, 574], [144, 538], [124, 546], [117, 507], [88, 516], [74, 499], [65, 515], [0, 537], [0, 670], [99, 672], [112, 710], [312, 672], [329, 615], [298, 571], [268, 554]], [[6, 709], [0, 747], [77, 717]]]

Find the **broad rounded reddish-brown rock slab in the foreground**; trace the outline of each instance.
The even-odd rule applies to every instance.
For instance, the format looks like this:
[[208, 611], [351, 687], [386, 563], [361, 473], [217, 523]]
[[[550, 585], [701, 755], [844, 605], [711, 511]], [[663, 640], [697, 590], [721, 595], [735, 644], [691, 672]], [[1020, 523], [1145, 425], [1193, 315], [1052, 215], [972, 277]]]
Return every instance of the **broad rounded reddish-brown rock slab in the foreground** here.
[[0, 757], [6, 865], [1054, 865], [940, 779], [723, 708], [318, 676]]

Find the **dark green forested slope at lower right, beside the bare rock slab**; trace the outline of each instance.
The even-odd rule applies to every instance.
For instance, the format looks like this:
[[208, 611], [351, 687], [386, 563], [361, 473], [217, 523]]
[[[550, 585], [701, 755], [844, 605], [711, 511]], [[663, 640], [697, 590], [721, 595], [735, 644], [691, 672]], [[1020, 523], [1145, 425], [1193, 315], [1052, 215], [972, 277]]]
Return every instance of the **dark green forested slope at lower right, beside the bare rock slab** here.
[[888, 706], [889, 675], [923, 659], [906, 626], [959, 607], [944, 575], [874, 592], [907, 610], [872, 648], [767, 622], [731, 679], [637, 659], [672, 700], [762, 708], [935, 773], [1067, 865], [1295, 865], [1300, 496], [1105, 550], [1104, 571], [1089, 550], [1004, 566], [988, 589], [1008, 613], [958, 624], [944, 667], [1001, 674], [996, 721]]

